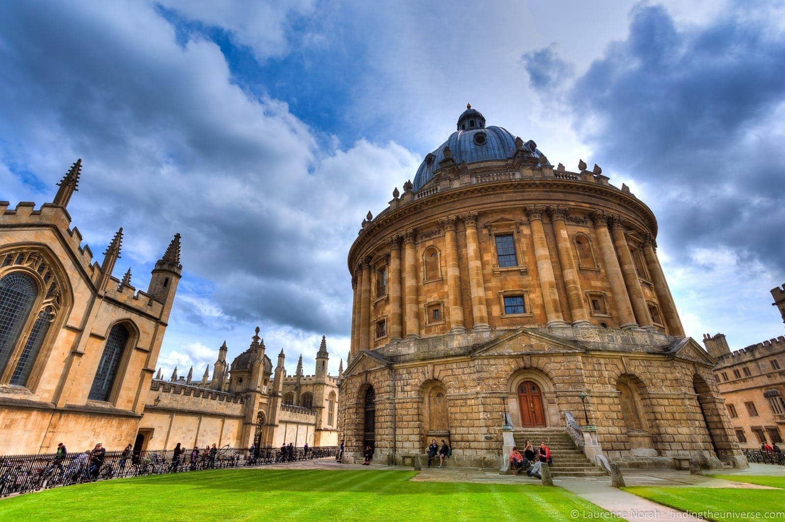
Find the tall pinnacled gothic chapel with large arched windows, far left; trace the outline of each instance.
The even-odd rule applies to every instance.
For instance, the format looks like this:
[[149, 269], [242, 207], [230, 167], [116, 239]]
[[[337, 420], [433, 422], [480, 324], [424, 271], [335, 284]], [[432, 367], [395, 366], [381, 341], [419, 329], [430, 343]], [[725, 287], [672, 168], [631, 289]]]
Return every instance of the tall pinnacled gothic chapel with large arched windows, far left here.
[[146, 292], [112, 272], [122, 228], [93, 260], [71, 228], [68, 201], [82, 160], [36, 209], [0, 201], [0, 440], [2, 452], [57, 443], [119, 448], [137, 435], [181, 277], [180, 235], [155, 263]]

